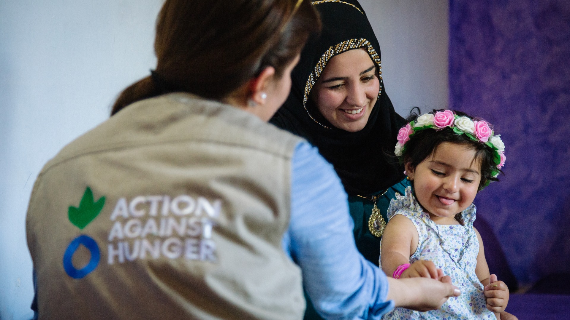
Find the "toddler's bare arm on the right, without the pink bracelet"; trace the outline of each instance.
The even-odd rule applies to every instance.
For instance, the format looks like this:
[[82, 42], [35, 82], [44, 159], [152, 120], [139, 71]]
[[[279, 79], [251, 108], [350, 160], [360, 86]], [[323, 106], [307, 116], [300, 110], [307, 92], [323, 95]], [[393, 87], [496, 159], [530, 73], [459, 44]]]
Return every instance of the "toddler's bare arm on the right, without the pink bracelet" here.
[[[475, 228], [474, 228], [475, 229]], [[497, 319], [500, 319], [500, 313], [504, 312], [507, 307], [509, 292], [507, 285], [503, 281], [498, 281], [495, 274], [489, 274], [489, 267], [485, 259], [483, 248], [483, 240], [479, 231], [475, 229], [477, 239], [479, 240], [479, 253], [477, 255], [477, 266], [475, 274], [484, 286], [484, 295], [487, 300], [487, 309], [493, 311]]]

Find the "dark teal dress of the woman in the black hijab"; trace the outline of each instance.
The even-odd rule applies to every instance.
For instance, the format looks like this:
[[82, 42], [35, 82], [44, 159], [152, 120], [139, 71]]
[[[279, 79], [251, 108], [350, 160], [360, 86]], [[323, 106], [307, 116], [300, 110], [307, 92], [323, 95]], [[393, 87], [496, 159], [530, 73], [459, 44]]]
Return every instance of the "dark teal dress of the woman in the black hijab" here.
[[[382, 218], [384, 221], [388, 221], [386, 216], [388, 212], [388, 207], [390, 206], [390, 200], [396, 199], [396, 192], [406, 194], [406, 187], [410, 186], [410, 182], [407, 179], [401, 180], [400, 182], [394, 184], [392, 187], [380, 196], [376, 202], [376, 206], [380, 209]], [[372, 196], [379, 196], [384, 192], [384, 190], [378, 191], [376, 194], [363, 195], [368, 199]], [[366, 260], [372, 262], [374, 265], [378, 265], [378, 258], [380, 257], [380, 239], [381, 237], [376, 237], [372, 235], [370, 229], [368, 228], [368, 220], [370, 215], [372, 215], [372, 208], [374, 203], [372, 200], [361, 198], [360, 196], [349, 196], [348, 206], [352, 220], [355, 223], [353, 233], [356, 241], [356, 248], [365, 257]], [[305, 311], [305, 320], [324, 320], [319, 314], [317, 314], [315, 307], [313, 306], [310, 298], [305, 292], [305, 299], [307, 300], [307, 311]]]

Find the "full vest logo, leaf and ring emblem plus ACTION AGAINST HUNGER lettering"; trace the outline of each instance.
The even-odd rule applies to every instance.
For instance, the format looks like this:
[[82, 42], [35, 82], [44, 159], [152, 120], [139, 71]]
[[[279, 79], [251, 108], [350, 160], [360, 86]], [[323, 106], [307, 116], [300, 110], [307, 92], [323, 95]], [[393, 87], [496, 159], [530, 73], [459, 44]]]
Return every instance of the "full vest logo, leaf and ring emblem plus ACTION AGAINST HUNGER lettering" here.
[[[105, 197], [93, 198], [87, 187], [79, 207], [70, 206], [70, 222], [79, 229], [87, 227], [99, 216]], [[220, 216], [222, 200], [198, 196], [139, 195], [130, 201], [120, 198], [111, 216], [107, 263], [123, 264], [137, 259], [179, 259], [217, 263], [217, 246], [212, 239], [215, 220]], [[72, 263], [75, 252], [83, 245], [91, 259], [81, 269]], [[63, 254], [63, 269], [68, 276], [80, 279], [93, 272], [101, 258], [99, 245], [92, 237], [80, 235], [68, 245]]]

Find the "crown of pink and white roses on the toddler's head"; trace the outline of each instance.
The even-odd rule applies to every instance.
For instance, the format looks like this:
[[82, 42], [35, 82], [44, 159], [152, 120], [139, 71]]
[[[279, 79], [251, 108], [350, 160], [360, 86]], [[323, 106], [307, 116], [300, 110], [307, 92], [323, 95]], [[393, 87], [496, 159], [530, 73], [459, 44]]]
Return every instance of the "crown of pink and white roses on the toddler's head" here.
[[493, 161], [496, 166], [496, 169], [492, 170], [491, 173], [493, 178], [499, 175], [499, 169], [504, 166], [504, 161], [507, 159], [504, 156], [504, 143], [500, 140], [500, 134], [495, 135], [487, 121], [472, 120], [467, 116], [458, 116], [451, 110], [445, 110], [435, 112], [435, 114], [424, 113], [416, 121], [412, 121], [400, 129], [398, 143], [396, 143], [396, 150], [394, 151], [400, 161], [404, 160], [402, 155], [406, 151], [406, 142], [414, 133], [425, 129], [453, 130], [455, 134], [465, 134], [470, 140], [491, 147], [494, 151]]

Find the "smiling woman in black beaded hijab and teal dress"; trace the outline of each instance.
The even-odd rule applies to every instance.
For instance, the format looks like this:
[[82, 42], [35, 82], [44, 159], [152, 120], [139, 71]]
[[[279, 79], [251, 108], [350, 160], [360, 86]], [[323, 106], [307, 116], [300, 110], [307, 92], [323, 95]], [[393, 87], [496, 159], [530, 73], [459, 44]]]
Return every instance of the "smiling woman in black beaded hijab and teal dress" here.
[[[386, 95], [380, 46], [360, 4], [313, 5], [323, 30], [307, 41], [291, 93], [271, 122], [306, 138], [332, 163], [348, 194], [356, 247], [377, 265], [390, 199], [408, 186], [392, 157], [406, 122]], [[308, 318], [320, 318], [311, 303]]]

